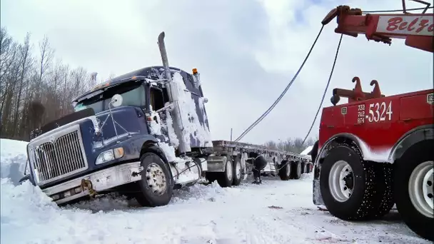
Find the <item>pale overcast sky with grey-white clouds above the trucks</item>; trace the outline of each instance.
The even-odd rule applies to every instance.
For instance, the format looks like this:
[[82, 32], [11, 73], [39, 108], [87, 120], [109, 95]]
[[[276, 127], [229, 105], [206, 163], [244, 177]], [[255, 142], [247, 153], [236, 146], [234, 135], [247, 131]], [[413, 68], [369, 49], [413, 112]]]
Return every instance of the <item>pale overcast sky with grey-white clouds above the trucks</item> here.
[[[166, 32], [171, 66], [201, 73], [213, 140], [236, 138], [280, 95], [338, 5], [362, 10], [400, 9], [400, 0], [1, 0], [1, 26], [16, 40], [27, 31], [37, 47], [49, 36], [56, 57], [97, 71], [99, 78], [160, 65], [157, 36]], [[433, 4], [433, 1], [430, 1]], [[408, 3], [408, 7], [420, 6]], [[430, 10], [432, 12], [432, 10]], [[264, 143], [304, 137], [318, 108], [339, 35], [335, 21], [323, 34], [298, 79], [278, 106], [241, 141]], [[363, 90], [376, 79], [385, 95], [433, 88], [433, 54], [401, 40], [391, 46], [344, 36], [323, 106], [335, 87]], [[343, 99], [346, 101], [346, 99]], [[319, 118], [311, 136], [318, 135]]]

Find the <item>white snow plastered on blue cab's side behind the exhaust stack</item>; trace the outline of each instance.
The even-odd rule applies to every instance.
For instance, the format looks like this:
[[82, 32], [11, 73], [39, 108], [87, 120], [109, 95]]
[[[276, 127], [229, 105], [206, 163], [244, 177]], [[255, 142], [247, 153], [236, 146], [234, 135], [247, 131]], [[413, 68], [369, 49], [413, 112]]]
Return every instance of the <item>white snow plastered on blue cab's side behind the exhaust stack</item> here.
[[[183, 138], [187, 146], [191, 144], [191, 138], [198, 141], [201, 147], [213, 146], [211, 133], [206, 124], [202, 124], [201, 121], [199, 121], [196, 112], [196, 103], [193, 98], [191, 98], [192, 95], [188, 92], [181, 73], [175, 72], [173, 74], [173, 82], [176, 83], [176, 87], [178, 88], [178, 103], [182, 115]], [[203, 101], [199, 99], [199, 103], [201, 102]]]

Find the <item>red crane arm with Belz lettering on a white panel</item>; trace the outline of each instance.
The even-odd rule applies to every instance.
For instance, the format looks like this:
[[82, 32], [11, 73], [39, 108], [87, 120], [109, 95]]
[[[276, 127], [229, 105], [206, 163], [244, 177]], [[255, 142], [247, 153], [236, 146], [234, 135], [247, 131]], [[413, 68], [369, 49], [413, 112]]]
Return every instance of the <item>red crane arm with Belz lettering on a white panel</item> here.
[[361, 9], [338, 6], [321, 22], [330, 23], [336, 17], [335, 33], [390, 44], [392, 39], [405, 39], [405, 45], [434, 52], [434, 14], [362, 14]]

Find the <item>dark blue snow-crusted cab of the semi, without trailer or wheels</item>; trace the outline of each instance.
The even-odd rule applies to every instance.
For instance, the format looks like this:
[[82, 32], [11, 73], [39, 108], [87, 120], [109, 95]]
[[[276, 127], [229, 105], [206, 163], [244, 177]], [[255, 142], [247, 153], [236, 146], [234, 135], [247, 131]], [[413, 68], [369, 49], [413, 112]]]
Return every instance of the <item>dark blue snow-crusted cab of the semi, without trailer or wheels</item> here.
[[[183, 101], [190, 102], [191, 110], [181, 113], [181, 120], [191, 123], [183, 126], [196, 128], [187, 131], [191, 133], [186, 135], [191, 139], [188, 153], [212, 147], [198, 77], [173, 67], [170, 72], [173, 80], [177, 77], [174, 87], [191, 96]], [[113, 78], [75, 98], [75, 113], [42, 126], [28, 144], [31, 183], [61, 204], [94, 190], [106, 192], [140, 181], [140, 158], [146, 148], [164, 163], [173, 163], [177, 142], [167, 86], [163, 66], [152, 66]], [[168, 168], [174, 185], [197, 181], [178, 181], [178, 168]]]

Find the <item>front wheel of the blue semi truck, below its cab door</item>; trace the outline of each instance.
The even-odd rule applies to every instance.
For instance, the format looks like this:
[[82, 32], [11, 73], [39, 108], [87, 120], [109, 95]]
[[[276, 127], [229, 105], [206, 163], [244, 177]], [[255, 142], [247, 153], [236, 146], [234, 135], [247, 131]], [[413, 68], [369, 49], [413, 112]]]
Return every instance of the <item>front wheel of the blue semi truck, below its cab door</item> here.
[[155, 153], [144, 153], [140, 161], [143, 171], [136, 200], [143, 207], [167, 205], [172, 198], [173, 178], [166, 163]]

